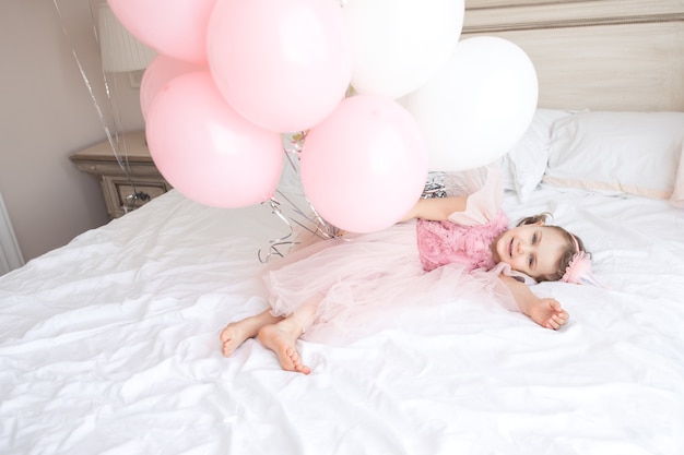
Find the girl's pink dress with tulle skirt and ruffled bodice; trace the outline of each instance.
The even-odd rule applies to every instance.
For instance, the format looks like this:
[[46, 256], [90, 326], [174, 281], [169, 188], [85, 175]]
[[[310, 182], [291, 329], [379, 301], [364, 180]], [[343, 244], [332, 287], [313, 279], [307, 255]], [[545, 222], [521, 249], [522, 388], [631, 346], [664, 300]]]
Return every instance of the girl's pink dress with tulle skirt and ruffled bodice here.
[[370, 314], [388, 307], [443, 302], [464, 292], [494, 295], [515, 309], [497, 278], [505, 267], [494, 263], [490, 250], [508, 229], [499, 209], [500, 175], [483, 168], [469, 172], [460, 185], [469, 194], [468, 206], [449, 221], [413, 220], [319, 241], [267, 266], [271, 312], [288, 315], [319, 296], [315, 320], [303, 336], [317, 339], [322, 333], [359, 334]]

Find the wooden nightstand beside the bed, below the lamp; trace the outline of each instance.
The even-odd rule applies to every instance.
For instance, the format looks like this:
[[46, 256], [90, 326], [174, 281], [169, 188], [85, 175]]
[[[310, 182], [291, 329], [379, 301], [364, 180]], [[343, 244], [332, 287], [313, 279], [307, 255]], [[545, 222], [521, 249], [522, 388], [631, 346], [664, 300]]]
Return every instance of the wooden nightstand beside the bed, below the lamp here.
[[121, 164], [109, 141], [69, 157], [80, 170], [98, 177], [111, 218], [126, 215], [172, 189], [154, 167], [143, 131], [119, 134], [119, 144]]

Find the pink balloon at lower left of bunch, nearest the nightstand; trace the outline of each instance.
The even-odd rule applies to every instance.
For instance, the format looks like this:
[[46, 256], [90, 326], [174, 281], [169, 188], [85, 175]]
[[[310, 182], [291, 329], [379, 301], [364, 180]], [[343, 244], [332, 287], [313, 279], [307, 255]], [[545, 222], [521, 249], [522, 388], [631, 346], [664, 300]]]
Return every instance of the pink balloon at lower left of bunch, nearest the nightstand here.
[[283, 169], [280, 135], [236, 113], [209, 72], [180, 75], [162, 88], [148, 112], [146, 136], [166, 180], [205, 205], [263, 202]]

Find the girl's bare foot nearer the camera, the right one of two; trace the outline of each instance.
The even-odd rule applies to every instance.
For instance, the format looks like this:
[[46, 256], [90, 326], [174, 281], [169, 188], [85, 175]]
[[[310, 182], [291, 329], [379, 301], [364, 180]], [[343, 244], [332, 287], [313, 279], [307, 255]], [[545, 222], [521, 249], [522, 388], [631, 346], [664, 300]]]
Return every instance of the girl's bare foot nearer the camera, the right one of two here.
[[311, 369], [302, 364], [302, 358], [297, 352], [296, 343], [299, 335], [302, 335], [302, 326], [286, 319], [278, 324], [261, 327], [259, 342], [275, 352], [283, 370], [309, 374]]

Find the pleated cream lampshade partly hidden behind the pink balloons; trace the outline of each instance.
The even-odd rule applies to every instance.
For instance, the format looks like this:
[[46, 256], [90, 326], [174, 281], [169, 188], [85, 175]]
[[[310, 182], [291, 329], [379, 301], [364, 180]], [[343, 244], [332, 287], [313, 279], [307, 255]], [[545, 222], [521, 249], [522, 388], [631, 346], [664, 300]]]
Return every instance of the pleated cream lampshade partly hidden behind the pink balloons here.
[[135, 39], [107, 3], [99, 5], [98, 16], [103, 71], [126, 72], [148, 68], [156, 52]]

